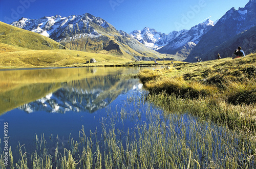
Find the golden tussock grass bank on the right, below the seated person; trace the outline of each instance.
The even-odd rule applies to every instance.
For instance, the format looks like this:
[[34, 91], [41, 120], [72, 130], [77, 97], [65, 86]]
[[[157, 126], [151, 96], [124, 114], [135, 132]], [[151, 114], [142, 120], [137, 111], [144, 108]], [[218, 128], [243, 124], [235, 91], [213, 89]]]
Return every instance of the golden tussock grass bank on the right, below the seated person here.
[[139, 78], [147, 89], [155, 92], [186, 93], [193, 98], [223, 93], [223, 90], [232, 86], [254, 91], [255, 62], [255, 54], [250, 54], [236, 60], [227, 58], [181, 65], [168, 72], [143, 70]]

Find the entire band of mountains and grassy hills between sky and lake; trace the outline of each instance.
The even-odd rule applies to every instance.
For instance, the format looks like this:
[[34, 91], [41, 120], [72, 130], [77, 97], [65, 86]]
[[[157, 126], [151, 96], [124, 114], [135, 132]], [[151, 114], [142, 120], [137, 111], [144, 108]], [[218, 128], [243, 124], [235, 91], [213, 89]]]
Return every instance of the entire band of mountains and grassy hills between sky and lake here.
[[[1, 22], [1, 67], [114, 66], [135, 61], [197, 62], [231, 57], [241, 46], [246, 54], [256, 48], [256, 1], [231, 8], [217, 21], [169, 34], [145, 27], [130, 34], [118, 31], [100, 17], [85, 13]], [[167, 63], [167, 62], [166, 62]], [[77, 65], [78, 64], [78, 65]], [[81, 65], [82, 64], [82, 65]]]

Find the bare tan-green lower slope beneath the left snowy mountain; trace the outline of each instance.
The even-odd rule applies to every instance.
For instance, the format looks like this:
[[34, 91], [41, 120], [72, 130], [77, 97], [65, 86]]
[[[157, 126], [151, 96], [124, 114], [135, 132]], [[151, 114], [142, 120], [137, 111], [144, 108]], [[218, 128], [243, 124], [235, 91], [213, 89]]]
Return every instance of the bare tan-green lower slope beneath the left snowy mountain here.
[[90, 36], [71, 40], [67, 38], [60, 41], [60, 44], [70, 50], [109, 54], [130, 60], [134, 59], [134, 56], [152, 58], [163, 58], [165, 56], [165, 54], [151, 50], [134, 39], [103, 33], [96, 38]]

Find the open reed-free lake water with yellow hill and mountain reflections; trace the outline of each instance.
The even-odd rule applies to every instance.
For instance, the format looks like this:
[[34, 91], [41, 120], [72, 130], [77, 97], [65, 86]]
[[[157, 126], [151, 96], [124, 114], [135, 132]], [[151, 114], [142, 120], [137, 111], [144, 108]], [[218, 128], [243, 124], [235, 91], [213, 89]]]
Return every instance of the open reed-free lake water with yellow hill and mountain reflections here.
[[20, 142], [33, 150], [35, 134], [52, 135], [54, 139], [58, 135], [66, 143], [70, 133], [78, 138], [82, 125], [88, 134], [101, 128], [106, 107], [119, 111], [128, 97], [142, 92], [138, 79], [118, 75], [139, 70], [99, 67], [0, 71], [0, 121], [1, 129], [8, 122], [9, 146], [14, 148]]

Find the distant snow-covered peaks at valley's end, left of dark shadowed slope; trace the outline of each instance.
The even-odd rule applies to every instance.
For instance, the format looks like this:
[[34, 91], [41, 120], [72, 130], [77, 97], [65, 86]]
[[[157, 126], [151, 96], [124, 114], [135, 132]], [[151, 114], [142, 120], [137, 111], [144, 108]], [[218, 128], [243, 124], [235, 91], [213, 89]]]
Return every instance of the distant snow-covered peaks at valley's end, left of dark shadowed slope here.
[[[207, 19], [203, 23], [191, 27], [190, 30], [173, 31], [169, 34], [157, 32], [154, 29], [145, 27], [141, 31], [133, 31], [130, 35], [148, 48], [160, 53], [178, 54], [186, 58], [189, 51], [201, 40], [215, 22]], [[188, 52], [188, 53], [187, 53]]]

